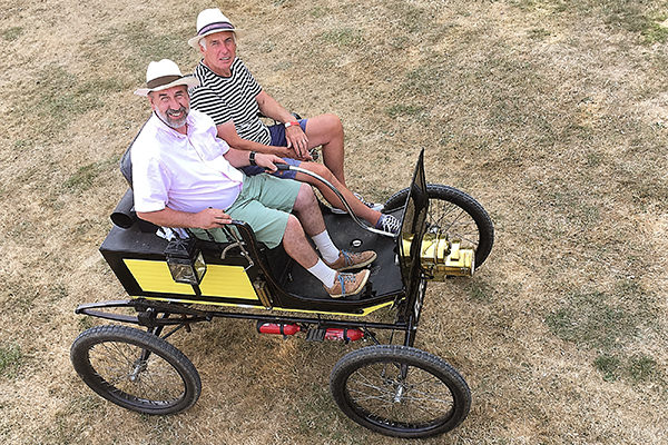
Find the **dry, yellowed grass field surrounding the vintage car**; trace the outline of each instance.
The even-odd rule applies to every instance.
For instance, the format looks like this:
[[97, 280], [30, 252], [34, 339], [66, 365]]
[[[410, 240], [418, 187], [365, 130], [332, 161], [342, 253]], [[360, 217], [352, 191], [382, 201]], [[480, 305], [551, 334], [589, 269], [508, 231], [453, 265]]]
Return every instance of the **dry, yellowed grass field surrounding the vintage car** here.
[[303, 116], [338, 115], [346, 180], [376, 200], [428, 180], [488, 209], [494, 250], [430, 287], [418, 344], [469, 382], [425, 444], [668, 442], [668, 1], [0, 0], [0, 443], [389, 444], [328, 394], [352, 347], [196, 326], [174, 344], [199, 402], [148, 417], [95, 395], [69, 347], [124, 298], [97, 251], [148, 115], [150, 60], [184, 71], [199, 10]]

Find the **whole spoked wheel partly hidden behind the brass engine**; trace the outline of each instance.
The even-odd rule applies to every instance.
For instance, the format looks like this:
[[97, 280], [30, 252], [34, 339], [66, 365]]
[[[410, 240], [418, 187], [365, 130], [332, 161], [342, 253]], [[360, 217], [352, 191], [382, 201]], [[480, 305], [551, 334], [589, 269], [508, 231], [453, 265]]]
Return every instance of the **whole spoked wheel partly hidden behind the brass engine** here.
[[[462, 248], [475, 249], [475, 267], [482, 266], [492, 250], [494, 226], [484, 208], [471, 196], [456, 188], [429, 184], [428, 233], [459, 239]], [[392, 211], [406, 202], [409, 189], [397, 191], [385, 202], [383, 211]]]

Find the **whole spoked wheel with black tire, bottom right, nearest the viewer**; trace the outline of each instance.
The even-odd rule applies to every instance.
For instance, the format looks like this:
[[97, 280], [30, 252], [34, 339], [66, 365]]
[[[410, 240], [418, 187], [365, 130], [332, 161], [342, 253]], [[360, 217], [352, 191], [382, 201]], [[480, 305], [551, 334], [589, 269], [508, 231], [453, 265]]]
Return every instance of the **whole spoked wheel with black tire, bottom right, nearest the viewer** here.
[[429, 437], [458, 426], [471, 392], [441, 358], [413, 347], [369, 346], [334, 366], [330, 388], [353, 421], [394, 437]]

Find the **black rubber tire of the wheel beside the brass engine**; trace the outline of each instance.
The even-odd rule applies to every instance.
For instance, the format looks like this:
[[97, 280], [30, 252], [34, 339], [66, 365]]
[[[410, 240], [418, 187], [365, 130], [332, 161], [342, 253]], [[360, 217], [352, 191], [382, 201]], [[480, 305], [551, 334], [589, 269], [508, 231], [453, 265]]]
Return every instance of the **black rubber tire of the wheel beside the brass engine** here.
[[[487, 210], [470, 195], [449, 186], [428, 184], [426, 194], [430, 200], [444, 200], [464, 210], [478, 228], [478, 247], [475, 248], [475, 267], [482, 266], [494, 244], [494, 225]], [[406, 202], [409, 189], [404, 188], [392, 195], [385, 202], [384, 212], [401, 208]], [[430, 202], [431, 207], [431, 202]], [[431, 209], [430, 209], [431, 214]], [[428, 217], [429, 222], [429, 217]]]

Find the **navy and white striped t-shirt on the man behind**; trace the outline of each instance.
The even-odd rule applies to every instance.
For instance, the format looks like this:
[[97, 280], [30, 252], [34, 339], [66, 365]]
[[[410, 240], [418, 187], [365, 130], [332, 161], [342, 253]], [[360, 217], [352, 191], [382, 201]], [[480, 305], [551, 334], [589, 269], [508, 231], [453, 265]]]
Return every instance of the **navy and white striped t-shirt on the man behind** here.
[[262, 87], [239, 58], [234, 60], [230, 70], [230, 77], [222, 77], [200, 61], [195, 68], [199, 87], [189, 90], [190, 107], [208, 115], [216, 125], [234, 121], [243, 139], [269, 145], [269, 130], [257, 117], [259, 107], [255, 97]]

